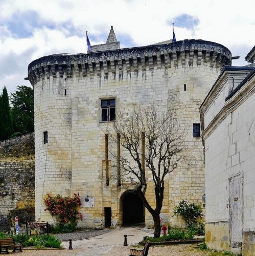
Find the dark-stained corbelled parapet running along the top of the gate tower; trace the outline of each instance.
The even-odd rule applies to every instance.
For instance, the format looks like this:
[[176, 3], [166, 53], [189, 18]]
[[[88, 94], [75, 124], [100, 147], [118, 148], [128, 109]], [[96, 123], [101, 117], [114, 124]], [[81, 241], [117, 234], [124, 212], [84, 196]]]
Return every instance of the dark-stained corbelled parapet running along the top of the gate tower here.
[[176, 69], [206, 65], [231, 65], [231, 52], [211, 41], [186, 39], [171, 44], [134, 47], [81, 54], [54, 54], [30, 63], [31, 84], [56, 77], [92, 77], [154, 69]]

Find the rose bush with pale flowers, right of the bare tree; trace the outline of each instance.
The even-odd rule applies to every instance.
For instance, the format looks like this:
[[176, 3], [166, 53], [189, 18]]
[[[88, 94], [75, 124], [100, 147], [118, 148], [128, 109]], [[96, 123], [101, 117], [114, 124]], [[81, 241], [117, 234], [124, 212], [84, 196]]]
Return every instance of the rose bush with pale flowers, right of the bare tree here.
[[189, 204], [183, 200], [174, 207], [174, 215], [180, 215], [188, 227], [195, 227], [198, 219], [203, 215], [203, 211], [200, 205], [196, 203]]

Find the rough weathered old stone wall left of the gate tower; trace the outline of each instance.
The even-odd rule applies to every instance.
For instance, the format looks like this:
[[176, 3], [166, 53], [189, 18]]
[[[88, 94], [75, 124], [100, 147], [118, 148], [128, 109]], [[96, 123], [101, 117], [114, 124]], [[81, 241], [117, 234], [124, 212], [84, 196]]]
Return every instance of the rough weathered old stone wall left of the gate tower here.
[[0, 142], [0, 230], [35, 219], [34, 134]]

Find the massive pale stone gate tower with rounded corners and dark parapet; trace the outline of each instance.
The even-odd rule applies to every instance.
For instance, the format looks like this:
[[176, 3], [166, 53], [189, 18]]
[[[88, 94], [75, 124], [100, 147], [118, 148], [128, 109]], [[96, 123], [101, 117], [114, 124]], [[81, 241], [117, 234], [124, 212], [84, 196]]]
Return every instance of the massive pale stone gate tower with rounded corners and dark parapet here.
[[[185, 127], [185, 160], [165, 182], [161, 213], [165, 224], [180, 225], [173, 207], [181, 200], [202, 203], [204, 156], [200, 137], [199, 106], [224, 65], [230, 51], [215, 42], [187, 39], [120, 49], [111, 28], [106, 44], [88, 53], [55, 54], [30, 63], [28, 77], [35, 95], [36, 220], [52, 221], [44, 211], [47, 194], [79, 193], [84, 203], [83, 227], [122, 225], [139, 208], [112, 172], [103, 133], [114, 121], [115, 109], [154, 104], [175, 109]], [[148, 181], [150, 182], [150, 181]], [[147, 199], [154, 203], [153, 186]], [[150, 214], [141, 210], [147, 226]], [[143, 218], [139, 219], [141, 221]], [[138, 220], [138, 219], [137, 219]]]

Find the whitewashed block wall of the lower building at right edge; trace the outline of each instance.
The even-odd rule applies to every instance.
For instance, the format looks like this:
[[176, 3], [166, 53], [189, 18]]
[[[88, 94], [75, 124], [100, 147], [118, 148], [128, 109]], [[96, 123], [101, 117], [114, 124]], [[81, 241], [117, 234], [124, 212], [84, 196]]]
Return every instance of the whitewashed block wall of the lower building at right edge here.
[[[222, 98], [218, 94], [225, 92], [220, 89], [221, 82], [216, 84], [215, 93], [209, 94], [201, 106], [201, 116], [205, 123], [205, 240], [208, 247], [215, 249], [240, 253], [242, 248], [243, 255], [252, 255], [255, 251], [254, 84], [253, 76], [233, 97], [224, 101], [223, 108], [216, 113], [211, 123], [208, 119], [212, 119], [213, 110], [218, 108], [214, 105], [215, 99]], [[235, 177], [240, 177], [242, 181], [238, 197], [233, 196], [230, 189], [230, 181]], [[233, 218], [230, 218], [234, 208], [231, 208], [230, 201], [233, 198], [236, 203], [240, 200], [243, 202], [238, 217], [240, 241], [231, 237], [231, 227], [236, 227]], [[241, 242], [242, 246], [235, 242]]]

